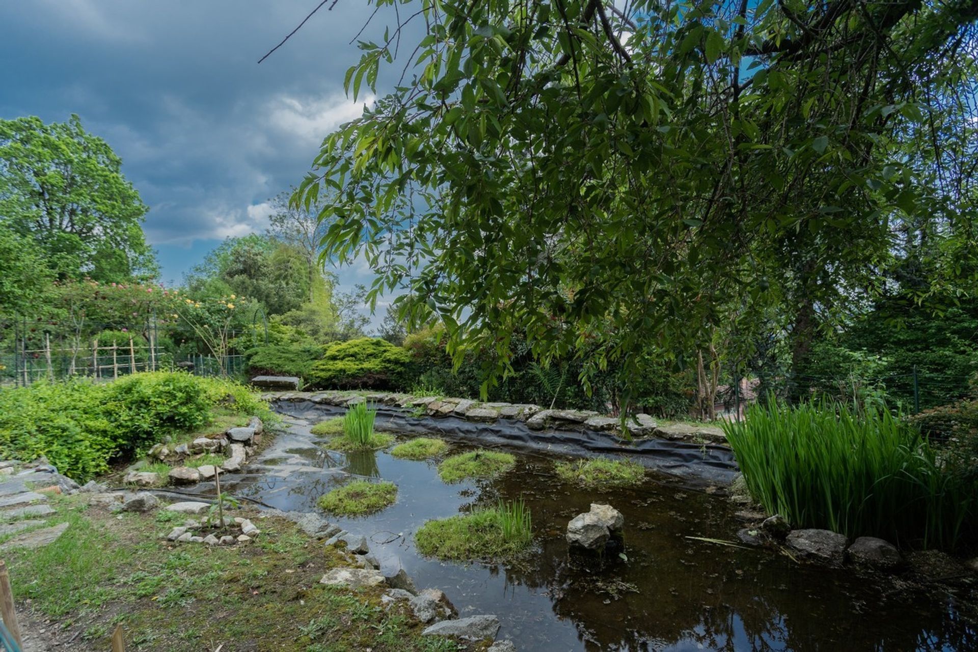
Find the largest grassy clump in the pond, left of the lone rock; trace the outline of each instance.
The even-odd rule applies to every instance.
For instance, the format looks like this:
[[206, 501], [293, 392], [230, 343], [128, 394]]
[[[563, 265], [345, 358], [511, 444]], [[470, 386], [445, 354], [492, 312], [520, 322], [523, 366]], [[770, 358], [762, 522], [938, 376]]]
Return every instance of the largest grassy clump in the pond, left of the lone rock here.
[[449, 560], [512, 558], [525, 553], [531, 543], [530, 512], [522, 500], [427, 521], [415, 533], [419, 552]]

